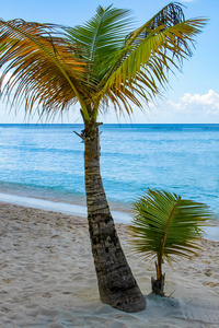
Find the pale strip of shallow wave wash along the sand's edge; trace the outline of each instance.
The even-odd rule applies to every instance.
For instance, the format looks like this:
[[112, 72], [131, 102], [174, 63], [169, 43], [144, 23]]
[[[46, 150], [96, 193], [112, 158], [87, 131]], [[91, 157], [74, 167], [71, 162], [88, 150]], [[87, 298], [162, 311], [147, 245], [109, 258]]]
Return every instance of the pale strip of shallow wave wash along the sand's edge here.
[[[0, 202], [87, 218], [87, 207], [78, 203], [53, 201], [3, 192], [0, 192]], [[122, 206], [111, 206], [111, 212], [115, 223], [129, 224], [132, 219], [131, 212], [124, 211]], [[219, 221], [210, 221], [209, 225], [204, 227], [204, 238], [219, 242]]]

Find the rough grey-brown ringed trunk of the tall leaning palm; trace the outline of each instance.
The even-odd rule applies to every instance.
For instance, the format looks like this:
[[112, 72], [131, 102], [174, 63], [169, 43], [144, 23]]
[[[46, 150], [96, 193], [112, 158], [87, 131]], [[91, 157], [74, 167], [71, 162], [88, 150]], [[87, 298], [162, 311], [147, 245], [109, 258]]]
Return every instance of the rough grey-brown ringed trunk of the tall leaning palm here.
[[100, 297], [103, 303], [124, 312], [146, 307], [143, 298], [122, 249], [100, 173], [100, 124], [85, 124], [85, 190], [89, 231]]

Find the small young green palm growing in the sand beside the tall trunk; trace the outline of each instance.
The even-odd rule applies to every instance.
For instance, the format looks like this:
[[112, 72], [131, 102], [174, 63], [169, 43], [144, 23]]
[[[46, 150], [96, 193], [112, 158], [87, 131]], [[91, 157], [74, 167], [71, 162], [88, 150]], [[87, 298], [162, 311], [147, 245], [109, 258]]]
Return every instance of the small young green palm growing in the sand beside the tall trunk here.
[[212, 214], [204, 203], [150, 189], [134, 203], [134, 211], [136, 215], [129, 229], [132, 249], [145, 258], [157, 258], [152, 292], [164, 295], [164, 259], [171, 265], [175, 256], [196, 254], [200, 249], [201, 226]]

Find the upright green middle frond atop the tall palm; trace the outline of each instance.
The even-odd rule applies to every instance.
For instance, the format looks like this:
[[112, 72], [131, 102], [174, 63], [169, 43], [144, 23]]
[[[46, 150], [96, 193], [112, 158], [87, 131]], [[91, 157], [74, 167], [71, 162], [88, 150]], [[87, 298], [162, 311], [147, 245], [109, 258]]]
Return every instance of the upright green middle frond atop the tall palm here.
[[79, 58], [90, 63], [96, 83], [102, 81], [112, 66], [112, 59], [124, 47], [131, 22], [129, 10], [99, 5], [96, 14], [84, 25], [65, 27], [67, 39], [78, 46]]

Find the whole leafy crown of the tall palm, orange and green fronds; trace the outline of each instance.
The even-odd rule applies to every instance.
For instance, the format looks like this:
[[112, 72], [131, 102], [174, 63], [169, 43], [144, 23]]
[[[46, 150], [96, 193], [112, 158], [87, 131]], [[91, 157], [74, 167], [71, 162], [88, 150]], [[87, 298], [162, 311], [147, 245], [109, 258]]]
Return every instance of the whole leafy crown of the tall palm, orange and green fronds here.
[[130, 114], [132, 104], [153, 98], [168, 72], [192, 56], [205, 23], [185, 21], [174, 3], [135, 31], [130, 11], [101, 5], [77, 27], [1, 20], [1, 83], [11, 72], [2, 94], [14, 92], [12, 104], [24, 101], [30, 112], [54, 114], [79, 102], [88, 121], [96, 121], [108, 104]]

